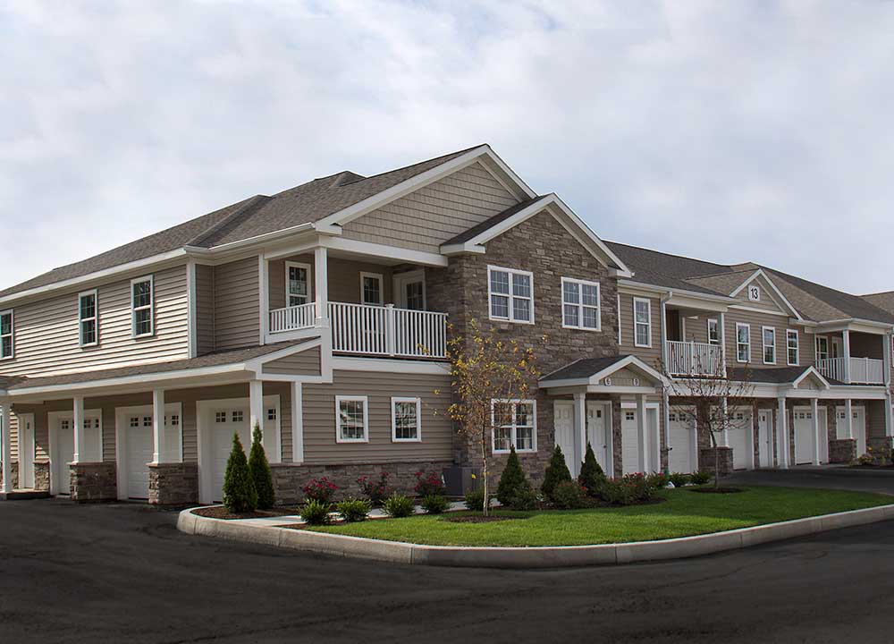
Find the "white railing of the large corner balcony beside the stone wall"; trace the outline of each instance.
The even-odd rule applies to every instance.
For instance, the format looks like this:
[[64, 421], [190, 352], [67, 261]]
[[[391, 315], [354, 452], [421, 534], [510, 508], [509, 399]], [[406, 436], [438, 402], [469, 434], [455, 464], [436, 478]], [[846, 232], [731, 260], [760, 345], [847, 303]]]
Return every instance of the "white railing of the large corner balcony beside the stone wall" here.
[[[447, 357], [446, 313], [345, 302], [329, 302], [328, 313], [333, 352], [433, 360]], [[270, 311], [271, 335], [315, 324], [313, 302]]]

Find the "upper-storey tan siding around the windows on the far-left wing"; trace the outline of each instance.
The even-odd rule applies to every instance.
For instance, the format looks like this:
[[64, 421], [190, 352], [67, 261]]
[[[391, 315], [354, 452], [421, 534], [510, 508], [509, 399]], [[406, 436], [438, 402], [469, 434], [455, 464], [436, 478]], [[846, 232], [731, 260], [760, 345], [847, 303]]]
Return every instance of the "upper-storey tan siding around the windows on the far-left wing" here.
[[151, 337], [132, 337], [130, 279], [97, 288], [99, 345], [94, 347], [80, 347], [77, 292], [16, 307], [15, 358], [4, 360], [4, 374], [37, 377], [188, 358], [186, 267], [157, 271], [153, 278]]

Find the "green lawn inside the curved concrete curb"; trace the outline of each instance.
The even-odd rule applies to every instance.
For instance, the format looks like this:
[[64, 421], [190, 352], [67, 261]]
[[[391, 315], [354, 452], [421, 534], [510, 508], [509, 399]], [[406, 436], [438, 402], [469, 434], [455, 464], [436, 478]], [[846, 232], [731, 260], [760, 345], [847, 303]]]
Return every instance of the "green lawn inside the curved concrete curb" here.
[[698, 494], [662, 490], [661, 504], [573, 511], [515, 513], [520, 521], [452, 523], [421, 515], [314, 528], [332, 532], [434, 546], [583, 546], [651, 541], [735, 530], [894, 502], [890, 496], [793, 487], [743, 487], [741, 494]]

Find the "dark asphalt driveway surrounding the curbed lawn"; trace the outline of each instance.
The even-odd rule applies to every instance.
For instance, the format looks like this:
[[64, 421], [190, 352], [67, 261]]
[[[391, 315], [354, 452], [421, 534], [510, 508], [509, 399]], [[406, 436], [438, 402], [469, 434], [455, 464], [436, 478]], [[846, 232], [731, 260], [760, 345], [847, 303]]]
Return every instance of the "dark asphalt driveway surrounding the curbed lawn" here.
[[[855, 485], [894, 491], [894, 477], [869, 479]], [[0, 642], [894, 640], [894, 521], [695, 560], [518, 572], [188, 537], [175, 516], [0, 503]]]

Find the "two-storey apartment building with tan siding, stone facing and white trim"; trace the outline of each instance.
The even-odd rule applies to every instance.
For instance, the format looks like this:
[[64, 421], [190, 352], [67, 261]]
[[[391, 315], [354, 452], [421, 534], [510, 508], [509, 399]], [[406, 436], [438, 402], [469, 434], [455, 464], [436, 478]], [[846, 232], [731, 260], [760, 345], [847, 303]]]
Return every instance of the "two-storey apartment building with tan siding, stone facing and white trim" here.
[[217, 502], [256, 424], [283, 502], [323, 475], [475, 466], [445, 413], [448, 336], [473, 319], [536, 347], [543, 376], [494, 402], [492, 440], [535, 479], [554, 444], [572, 471], [587, 442], [612, 475], [713, 462], [668, 386], [700, 370], [754, 389], [727, 469], [891, 447], [890, 308], [603, 242], [483, 145], [257, 195], [0, 292], [2, 491]]

